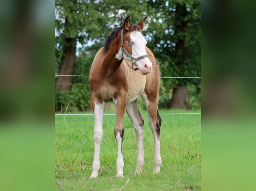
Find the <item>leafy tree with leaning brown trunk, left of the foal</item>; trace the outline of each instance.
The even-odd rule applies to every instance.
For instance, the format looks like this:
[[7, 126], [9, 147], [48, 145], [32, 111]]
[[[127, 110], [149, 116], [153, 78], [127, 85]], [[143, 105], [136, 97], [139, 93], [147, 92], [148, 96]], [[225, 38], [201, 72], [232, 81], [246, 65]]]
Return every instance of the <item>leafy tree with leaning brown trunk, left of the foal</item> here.
[[[59, 75], [73, 75], [76, 62], [77, 42], [86, 44], [95, 38], [101, 39], [108, 17], [101, 11], [106, 7], [99, 1], [56, 0], [55, 1], [55, 62]], [[55, 91], [71, 89], [72, 76], [59, 76]]]

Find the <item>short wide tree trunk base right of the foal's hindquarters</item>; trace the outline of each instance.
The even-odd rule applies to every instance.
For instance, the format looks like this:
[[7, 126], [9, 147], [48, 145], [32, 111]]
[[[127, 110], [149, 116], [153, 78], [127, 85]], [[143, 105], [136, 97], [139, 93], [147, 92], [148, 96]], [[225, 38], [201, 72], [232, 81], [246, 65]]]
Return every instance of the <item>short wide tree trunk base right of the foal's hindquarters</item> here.
[[172, 109], [191, 109], [187, 104], [188, 90], [187, 86], [177, 86], [173, 89], [172, 98], [169, 103], [169, 108]]

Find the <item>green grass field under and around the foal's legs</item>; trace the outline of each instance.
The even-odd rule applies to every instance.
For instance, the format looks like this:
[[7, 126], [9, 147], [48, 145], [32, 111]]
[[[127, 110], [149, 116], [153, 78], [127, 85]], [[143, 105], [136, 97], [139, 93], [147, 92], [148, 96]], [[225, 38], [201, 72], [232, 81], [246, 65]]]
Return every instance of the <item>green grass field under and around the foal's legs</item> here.
[[[132, 123], [124, 118], [124, 178], [116, 178], [117, 144], [115, 115], [105, 115], [97, 179], [92, 173], [94, 153], [93, 115], [55, 116], [56, 190], [200, 190], [201, 189], [201, 115], [161, 115], [161, 113], [201, 112], [159, 110], [162, 118], [160, 146], [162, 167], [152, 174], [154, 145], [147, 115], [144, 124], [143, 172], [134, 175], [136, 138]], [[88, 112], [91, 113], [91, 112]], [[105, 112], [110, 113], [110, 112]], [[146, 113], [146, 111], [141, 111]], [[189, 153], [188, 153], [189, 151]]]

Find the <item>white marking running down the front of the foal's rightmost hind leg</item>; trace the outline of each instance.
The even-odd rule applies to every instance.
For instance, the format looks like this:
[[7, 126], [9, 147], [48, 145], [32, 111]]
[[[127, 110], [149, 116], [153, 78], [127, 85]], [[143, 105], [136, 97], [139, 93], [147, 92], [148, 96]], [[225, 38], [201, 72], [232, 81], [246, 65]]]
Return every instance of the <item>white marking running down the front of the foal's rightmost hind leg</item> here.
[[[145, 92], [143, 92], [141, 94], [142, 100], [147, 108], [148, 111], [148, 106], [149, 106], [149, 101], [147, 99], [147, 95], [145, 94]], [[153, 134], [153, 138], [154, 138], [154, 170], [153, 173], [157, 174], [160, 172], [160, 167], [162, 166], [162, 160], [161, 160], [161, 154], [160, 154], [160, 138], [158, 139], [157, 135], [156, 135], [156, 131], [155, 131], [155, 127], [153, 124], [153, 119], [149, 114], [148, 111], [148, 118], [149, 118], [149, 124], [150, 124], [150, 128]]]

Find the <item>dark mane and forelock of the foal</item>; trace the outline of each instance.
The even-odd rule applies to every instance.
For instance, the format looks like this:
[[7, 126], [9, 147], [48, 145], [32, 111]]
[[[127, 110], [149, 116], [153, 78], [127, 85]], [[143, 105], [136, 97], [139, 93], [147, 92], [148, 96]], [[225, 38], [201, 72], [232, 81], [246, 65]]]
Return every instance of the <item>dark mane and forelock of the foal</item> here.
[[[104, 44], [104, 48], [103, 48], [103, 53], [107, 53], [109, 50], [109, 47], [111, 45], [111, 43], [113, 42], [113, 40], [117, 37], [118, 33], [122, 30], [123, 25], [121, 25], [120, 27], [117, 27], [114, 31], [112, 31], [110, 33], [110, 35], [106, 38], [105, 44]], [[133, 24], [131, 23], [129, 26], [129, 31], [139, 31], [141, 32], [141, 28], [139, 25]]]

